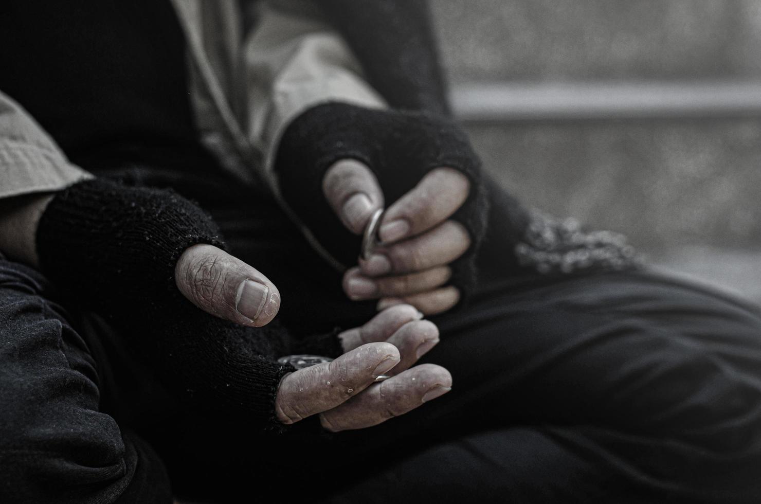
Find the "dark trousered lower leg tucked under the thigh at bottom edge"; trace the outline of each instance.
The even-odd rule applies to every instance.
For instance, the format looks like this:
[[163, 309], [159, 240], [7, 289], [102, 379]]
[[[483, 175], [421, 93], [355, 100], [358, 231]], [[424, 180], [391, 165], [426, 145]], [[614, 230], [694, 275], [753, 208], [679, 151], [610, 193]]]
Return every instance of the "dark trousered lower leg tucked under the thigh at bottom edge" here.
[[478, 432], [411, 454], [327, 502], [625, 502], [622, 478], [550, 429]]

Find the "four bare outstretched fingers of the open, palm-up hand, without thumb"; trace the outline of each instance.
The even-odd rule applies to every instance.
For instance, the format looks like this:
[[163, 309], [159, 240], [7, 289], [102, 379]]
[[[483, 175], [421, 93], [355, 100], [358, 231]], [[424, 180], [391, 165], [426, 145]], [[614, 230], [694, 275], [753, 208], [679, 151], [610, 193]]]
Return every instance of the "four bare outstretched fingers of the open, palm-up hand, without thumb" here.
[[[339, 334], [345, 354], [280, 381], [275, 412], [285, 424], [320, 415], [330, 431], [363, 429], [400, 416], [450, 391], [438, 365], [411, 367], [438, 343], [438, 329], [410, 305], [396, 305]], [[393, 375], [374, 383], [378, 375]]]

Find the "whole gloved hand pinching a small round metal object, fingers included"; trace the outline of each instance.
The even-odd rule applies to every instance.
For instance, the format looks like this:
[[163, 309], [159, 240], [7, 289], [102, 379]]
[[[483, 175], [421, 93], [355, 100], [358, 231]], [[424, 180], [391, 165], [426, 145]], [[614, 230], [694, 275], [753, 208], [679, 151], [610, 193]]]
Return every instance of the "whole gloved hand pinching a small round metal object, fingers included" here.
[[275, 174], [311, 238], [347, 267], [358, 233], [387, 199], [380, 238], [389, 243], [348, 270], [350, 298], [380, 298], [380, 308], [406, 301], [436, 314], [475, 289], [489, 199], [481, 161], [452, 120], [320, 104], [283, 133]]

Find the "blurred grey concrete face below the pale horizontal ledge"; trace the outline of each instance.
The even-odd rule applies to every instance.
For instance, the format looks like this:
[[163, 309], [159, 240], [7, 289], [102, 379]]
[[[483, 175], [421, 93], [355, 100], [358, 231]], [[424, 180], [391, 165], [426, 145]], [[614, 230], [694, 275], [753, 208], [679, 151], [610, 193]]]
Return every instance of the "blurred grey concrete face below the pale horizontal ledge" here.
[[761, 250], [761, 120], [468, 126], [524, 203], [651, 249]]

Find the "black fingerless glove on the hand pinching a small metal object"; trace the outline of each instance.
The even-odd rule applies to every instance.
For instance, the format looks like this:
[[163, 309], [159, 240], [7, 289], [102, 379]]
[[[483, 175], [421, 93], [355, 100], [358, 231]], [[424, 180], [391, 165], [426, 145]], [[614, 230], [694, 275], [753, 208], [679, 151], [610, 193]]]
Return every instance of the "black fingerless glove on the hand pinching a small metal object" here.
[[387, 205], [436, 167], [470, 179], [470, 196], [452, 217], [470, 233], [471, 246], [451, 264], [451, 283], [465, 293], [475, 282], [473, 258], [486, 225], [487, 199], [480, 161], [450, 120], [424, 113], [370, 110], [330, 103], [311, 108], [286, 129], [275, 171], [288, 206], [317, 241], [345, 266], [356, 263], [360, 238], [348, 231], [323, 196], [323, 177], [336, 161], [354, 158], [374, 171]]

